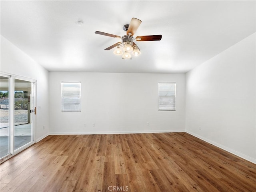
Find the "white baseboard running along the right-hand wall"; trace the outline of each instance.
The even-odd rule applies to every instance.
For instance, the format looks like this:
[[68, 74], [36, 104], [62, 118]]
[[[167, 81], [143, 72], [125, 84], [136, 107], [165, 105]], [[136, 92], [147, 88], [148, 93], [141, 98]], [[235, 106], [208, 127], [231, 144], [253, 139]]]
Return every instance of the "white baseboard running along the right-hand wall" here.
[[224, 145], [222, 145], [222, 144], [216, 143], [216, 142], [214, 142], [214, 141], [212, 141], [212, 140], [210, 140], [210, 139], [208, 139], [208, 138], [205, 138], [205, 137], [202, 137], [202, 136], [200, 136], [200, 135], [198, 135], [198, 134], [195, 134], [194, 132], [191, 132], [191, 131], [188, 131], [188, 130], [186, 130], [185, 132], [188, 133], [188, 134], [190, 134], [190, 135], [192, 135], [192, 136], [195, 136], [195, 137], [197, 137], [197, 138], [199, 138], [199, 139], [201, 139], [201, 140], [203, 140], [203, 141], [205, 141], [205, 142], [208, 142], [208, 143], [210, 143], [210, 144], [212, 144], [212, 145], [214, 145], [214, 146], [216, 146], [216, 147], [218, 147], [218, 148], [221, 148], [221, 149], [223, 149], [223, 150], [225, 150], [225, 151], [227, 151], [227, 152], [230, 152], [230, 153], [232, 153], [232, 154], [234, 154], [234, 155], [236, 155], [236, 156], [238, 156], [238, 157], [241, 157], [241, 158], [243, 158], [243, 159], [245, 159], [245, 160], [248, 160], [248, 161], [250, 161], [250, 162], [256, 164], [256, 159], [254, 159], [254, 158], [252, 158], [252, 157], [249, 157], [249, 156], [247, 156], [247, 155], [245, 155], [245, 154], [242, 154], [242, 153], [240, 153], [240, 152], [238, 152], [238, 151], [236, 151], [236, 150], [233, 150], [233, 149], [231, 149], [231, 148], [228, 148], [228, 147], [226, 147], [226, 146], [224, 146]]

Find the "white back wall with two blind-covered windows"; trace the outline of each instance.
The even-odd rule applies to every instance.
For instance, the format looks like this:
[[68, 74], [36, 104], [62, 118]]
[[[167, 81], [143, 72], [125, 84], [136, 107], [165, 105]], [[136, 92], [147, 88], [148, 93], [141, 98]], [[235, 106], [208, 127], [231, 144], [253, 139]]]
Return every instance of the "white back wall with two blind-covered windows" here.
[[[185, 74], [50, 72], [49, 76], [50, 134], [185, 130]], [[61, 81], [81, 82], [80, 113], [61, 112]], [[158, 112], [161, 81], [176, 82], [176, 111]]]

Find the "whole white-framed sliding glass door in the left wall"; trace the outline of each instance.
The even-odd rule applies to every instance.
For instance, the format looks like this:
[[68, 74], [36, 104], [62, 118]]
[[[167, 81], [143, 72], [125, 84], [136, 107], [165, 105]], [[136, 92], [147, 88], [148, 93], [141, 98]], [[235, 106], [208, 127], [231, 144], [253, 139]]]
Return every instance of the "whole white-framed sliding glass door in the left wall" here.
[[35, 81], [0, 76], [1, 161], [34, 143]]

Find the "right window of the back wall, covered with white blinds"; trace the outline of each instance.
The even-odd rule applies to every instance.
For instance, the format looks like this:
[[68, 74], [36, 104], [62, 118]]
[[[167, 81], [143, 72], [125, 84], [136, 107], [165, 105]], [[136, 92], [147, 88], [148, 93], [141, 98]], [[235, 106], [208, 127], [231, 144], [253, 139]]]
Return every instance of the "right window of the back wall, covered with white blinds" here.
[[158, 83], [158, 111], [176, 110], [176, 82]]

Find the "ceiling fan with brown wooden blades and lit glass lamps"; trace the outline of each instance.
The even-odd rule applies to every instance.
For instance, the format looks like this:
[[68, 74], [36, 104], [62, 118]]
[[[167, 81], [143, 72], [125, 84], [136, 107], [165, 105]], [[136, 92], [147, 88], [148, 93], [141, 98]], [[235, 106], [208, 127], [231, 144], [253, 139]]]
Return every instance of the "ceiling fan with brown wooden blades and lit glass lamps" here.
[[[140, 48], [138, 48], [138, 46], [133, 42], [134, 40], [133, 35], [138, 29], [138, 27], [140, 26], [140, 24], [141, 24], [141, 20], [132, 18], [130, 24], [126, 24], [123, 26], [123, 30], [126, 31], [126, 35], [122, 37], [118, 35], [100, 32], [100, 31], [96, 31], [95, 33], [99, 35], [105, 35], [105, 36], [121, 39], [121, 42], [117, 42], [114, 45], [109, 46], [105, 50], [110, 50], [117, 46], [116, 50], [114, 50], [114, 54], [122, 55], [122, 58], [124, 60], [132, 59], [132, 56], [130, 53], [132, 53], [135, 56], [140, 54]], [[162, 35], [137, 36], [135, 38], [136, 41], [160, 41], [161, 39], [162, 39]], [[122, 48], [120, 47], [123, 48], [124, 54], [123, 54]]]

